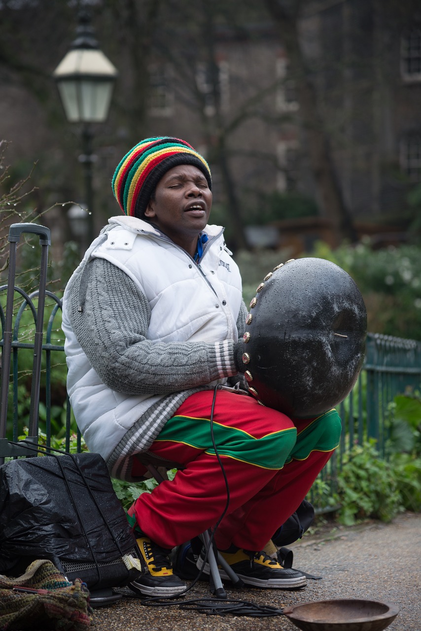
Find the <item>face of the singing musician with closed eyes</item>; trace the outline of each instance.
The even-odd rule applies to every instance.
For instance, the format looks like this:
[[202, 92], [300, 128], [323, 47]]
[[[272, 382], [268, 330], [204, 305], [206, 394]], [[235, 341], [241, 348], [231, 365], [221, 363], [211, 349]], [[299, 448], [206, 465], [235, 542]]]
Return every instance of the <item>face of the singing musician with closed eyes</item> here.
[[159, 180], [145, 215], [175, 244], [193, 256], [199, 232], [208, 223], [212, 193], [201, 170], [193, 165], [170, 168]]

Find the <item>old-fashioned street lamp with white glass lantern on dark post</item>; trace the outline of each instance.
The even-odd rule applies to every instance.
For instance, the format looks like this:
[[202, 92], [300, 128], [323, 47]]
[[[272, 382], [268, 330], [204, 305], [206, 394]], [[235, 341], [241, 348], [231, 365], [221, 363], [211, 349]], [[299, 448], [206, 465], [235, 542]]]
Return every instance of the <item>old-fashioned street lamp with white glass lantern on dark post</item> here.
[[93, 234], [92, 124], [107, 120], [117, 69], [98, 49], [90, 15], [80, 11], [76, 39], [53, 73], [66, 118], [81, 124], [83, 154], [79, 157], [85, 174], [88, 239]]

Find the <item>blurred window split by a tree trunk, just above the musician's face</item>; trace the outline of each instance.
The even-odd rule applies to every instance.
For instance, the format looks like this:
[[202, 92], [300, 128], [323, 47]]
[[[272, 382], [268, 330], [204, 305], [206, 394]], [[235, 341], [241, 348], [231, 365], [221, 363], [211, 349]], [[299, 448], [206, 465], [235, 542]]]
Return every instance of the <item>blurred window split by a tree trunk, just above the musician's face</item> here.
[[218, 62], [217, 85], [213, 85], [211, 66], [206, 62], [196, 65], [196, 85], [203, 96], [204, 112], [206, 116], [215, 116], [215, 92], [220, 99], [220, 109], [227, 112], [230, 105], [230, 74], [227, 61]]

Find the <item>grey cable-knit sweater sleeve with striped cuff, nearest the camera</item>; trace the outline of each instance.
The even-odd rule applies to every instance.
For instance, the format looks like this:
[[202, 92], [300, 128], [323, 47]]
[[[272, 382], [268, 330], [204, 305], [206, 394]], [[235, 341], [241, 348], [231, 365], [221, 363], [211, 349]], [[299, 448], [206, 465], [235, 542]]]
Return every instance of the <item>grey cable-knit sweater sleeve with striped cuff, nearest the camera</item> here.
[[82, 283], [76, 281], [68, 292], [69, 321], [93, 369], [110, 389], [169, 394], [237, 374], [234, 341], [151, 341], [150, 307], [131, 278], [104, 259], [86, 265], [83, 310]]

